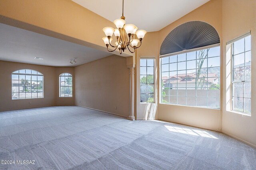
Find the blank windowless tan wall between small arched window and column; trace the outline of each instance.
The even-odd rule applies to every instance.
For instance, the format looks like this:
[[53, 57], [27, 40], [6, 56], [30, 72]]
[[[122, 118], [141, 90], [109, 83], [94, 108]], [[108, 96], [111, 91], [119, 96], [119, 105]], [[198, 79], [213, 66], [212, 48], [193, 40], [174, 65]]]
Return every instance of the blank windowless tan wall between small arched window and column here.
[[[75, 67], [75, 105], [129, 116], [126, 58], [112, 55]], [[117, 109], [116, 109], [117, 107]]]

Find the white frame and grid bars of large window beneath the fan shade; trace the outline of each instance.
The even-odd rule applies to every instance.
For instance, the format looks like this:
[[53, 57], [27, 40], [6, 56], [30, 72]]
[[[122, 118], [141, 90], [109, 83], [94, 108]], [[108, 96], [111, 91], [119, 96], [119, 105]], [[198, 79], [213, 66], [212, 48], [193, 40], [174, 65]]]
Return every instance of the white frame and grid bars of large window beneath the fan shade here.
[[[170, 104], [170, 103], [162, 103], [162, 58], [164, 58], [164, 57], [170, 57], [170, 56], [173, 56], [173, 55], [180, 55], [180, 54], [186, 54], [186, 53], [190, 53], [190, 52], [193, 52], [193, 51], [199, 51], [199, 50], [203, 50], [203, 49], [210, 49], [210, 48], [214, 48], [214, 47], [220, 47], [220, 44], [215, 44], [215, 45], [209, 45], [209, 46], [206, 46], [206, 47], [200, 47], [200, 48], [196, 48], [196, 49], [190, 49], [190, 50], [185, 50], [185, 51], [179, 51], [179, 52], [176, 52], [176, 53], [172, 53], [172, 54], [167, 54], [167, 55], [161, 55], [160, 56], [160, 104], [168, 104], [168, 105], [177, 105], [177, 106], [190, 106], [190, 107], [203, 107], [203, 108], [207, 108], [207, 109], [220, 109], [220, 107], [208, 107], [208, 106], [196, 106], [196, 105], [188, 105], [187, 104], [187, 101], [186, 101], [186, 104], [178, 104], [178, 89], [177, 89], [177, 104]], [[208, 54], [207, 54], [208, 55]], [[220, 57], [220, 54], [218, 55], [218, 56], [214, 56], [214, 57]], [[214, 58], [214, 57], [208, 57], [207, 56], [207, 58]], [[197, 58], [195, 59], [196, 61], [198, 60]], [[187, 58], [186, 58], [186, 61], [190, 61], [190, 60], [187, 60]], [[191, 61], [193, 61], [193, 60], [191, 60]], [[221, 61], [221, 58], [220, 58], [220, 61]], [[180, 63], [180, 62], [184, 62], [184, 61], [177, 61], [176, 63], [177, 63], [177, 72], [179, 71], [178, 70], [178, 63]], [[169, 61], [169, 64], [170, 64], [170, 61]], [[217, 66], [216, 66], [217, 67]], [[220, 66], [218, 66], [219, 68], [220, 68]], [[207, 63], [207, 68], [209, 68], [208, 67], [208, 63]], [[195, 70], [196, 70], [197, 68], [195, 68]], [[186, 70], [190, 70], [190, 69], [187, 69], [187, 64], [186, 64]], [[170, 68], [169, 68], [169, 71], [168, 72], [170, 72]], [[187, 75], [187, 73], [186, 73], [186, 75]], [[170, 77], [170, 75], [169, 75], [169, 77]], [[210, 78], [210, 77], [208, 77], [208, 70], [207, 70], [207, 78]], [[218, 77], [219, 78], [219, 80], [220, 80], [220, 84], [221, 84], [221, 69], [220, 69], [220, 76]], [[186, 87], [187, 88], [187, 87]], [[221, 87], [220, 87], [220, 91], [221, 91]], [[220, 93], [220, 92], [219, 92]], [[187, 92], [186, 92], [186, 96], [184, 96], [184, 97], [190, 97], [190, 96], [188, 96], [187, 95]], [[192, 96], [192, 97], [195, 97], [195, 98], [197, 98], [197, 97], [199, 97], [199, 96], [197, 96], [197, 92], [196, 92], [196, 96]], [[207, 100], [208, 100], [208, 93], [207, 93], [207, 96], [205, 97], [205, 98], [207, 98]], [[220, 101], [220, 97], [219, 97], [219, 104], [220, 104], [220, 106], [221, 106], [221, 101]], [[207, 101], [207, 105], [208, 105], [208, 101]]]

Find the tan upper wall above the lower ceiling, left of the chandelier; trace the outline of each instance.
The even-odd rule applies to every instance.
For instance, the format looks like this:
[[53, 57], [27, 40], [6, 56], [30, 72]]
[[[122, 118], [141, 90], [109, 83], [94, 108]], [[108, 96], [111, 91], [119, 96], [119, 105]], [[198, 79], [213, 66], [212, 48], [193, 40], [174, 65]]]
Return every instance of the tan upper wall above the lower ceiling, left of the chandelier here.
[[[0, 22], [101, 51], [107, 51], [102, 29], [115, 27], [71, 0], [0, 0]], [[113, 54], [120, 55], [118, 50]]]

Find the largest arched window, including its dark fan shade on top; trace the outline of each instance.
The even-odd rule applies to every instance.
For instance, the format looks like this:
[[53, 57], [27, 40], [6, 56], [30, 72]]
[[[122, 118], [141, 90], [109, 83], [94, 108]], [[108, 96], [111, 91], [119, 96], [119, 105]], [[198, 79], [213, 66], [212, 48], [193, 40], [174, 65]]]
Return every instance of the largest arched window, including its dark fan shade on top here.
[[220, 108], [220, 38], [208, 23], [173, 29], [161, 49], [161, 102]]

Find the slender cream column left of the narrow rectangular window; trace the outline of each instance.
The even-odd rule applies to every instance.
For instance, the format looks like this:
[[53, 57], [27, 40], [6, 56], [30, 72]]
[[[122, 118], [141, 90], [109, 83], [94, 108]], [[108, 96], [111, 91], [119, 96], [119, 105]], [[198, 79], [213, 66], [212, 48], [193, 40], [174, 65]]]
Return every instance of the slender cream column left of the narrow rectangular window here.
[[132, 64], [130, 68], [130, 115], [127, 117], [129, 120], [135, 120], [134, 116], [134, 68], [135, 65]]

